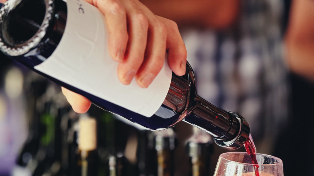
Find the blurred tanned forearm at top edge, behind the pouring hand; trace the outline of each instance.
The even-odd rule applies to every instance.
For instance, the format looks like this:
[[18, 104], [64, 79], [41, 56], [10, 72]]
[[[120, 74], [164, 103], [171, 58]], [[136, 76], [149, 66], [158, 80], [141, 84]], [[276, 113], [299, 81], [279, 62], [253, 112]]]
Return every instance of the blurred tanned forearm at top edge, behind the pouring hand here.
[[153, 13], [179, 26], [225, 29], [237, 19], [240, 0], [141, 0]]

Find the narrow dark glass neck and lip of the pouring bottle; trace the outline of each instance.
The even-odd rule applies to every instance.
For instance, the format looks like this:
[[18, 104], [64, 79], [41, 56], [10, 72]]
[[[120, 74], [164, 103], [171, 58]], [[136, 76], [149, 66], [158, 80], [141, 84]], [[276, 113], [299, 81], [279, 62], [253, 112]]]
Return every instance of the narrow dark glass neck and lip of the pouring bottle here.
[[241, 147], [250, 133], [249, 125], [240, 115], [219, 109], [198, 95], [184, 121], [207, 131], [218, 145], [229, 148]]

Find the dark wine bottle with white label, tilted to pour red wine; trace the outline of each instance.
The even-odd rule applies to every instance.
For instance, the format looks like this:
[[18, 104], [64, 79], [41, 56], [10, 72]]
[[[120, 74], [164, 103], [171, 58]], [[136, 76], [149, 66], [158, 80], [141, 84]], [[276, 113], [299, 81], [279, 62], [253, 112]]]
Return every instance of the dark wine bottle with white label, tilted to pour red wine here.
[[149, 88], [119, 82], [107, 51], [104, 16], [83, 0], [8, 0], [0, 9], [0, 50], [95, 105], [147, 129], [161, 130], [184, 120], [239, 148], [249, 136], [240, 116], [196, 94], [193, 70], [177, 76], [167, 62]]

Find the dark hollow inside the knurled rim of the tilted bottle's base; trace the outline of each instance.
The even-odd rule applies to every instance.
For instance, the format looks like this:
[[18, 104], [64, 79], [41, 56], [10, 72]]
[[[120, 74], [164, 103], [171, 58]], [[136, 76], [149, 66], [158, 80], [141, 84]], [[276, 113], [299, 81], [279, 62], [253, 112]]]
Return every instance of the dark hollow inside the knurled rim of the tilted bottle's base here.
[[20, 0], [3, 20], [3, 39], [12, 46], [30, 40], [40, 29], [46, 14], [44, 0]]

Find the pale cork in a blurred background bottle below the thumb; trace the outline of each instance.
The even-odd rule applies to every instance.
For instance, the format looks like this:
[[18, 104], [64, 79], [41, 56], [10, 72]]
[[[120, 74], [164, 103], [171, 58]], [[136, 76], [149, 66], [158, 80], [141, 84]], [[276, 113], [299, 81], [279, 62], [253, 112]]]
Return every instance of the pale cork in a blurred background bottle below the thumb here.
[[78, 149], [92, 151], [97, 147], [96, 120], [94, 118], [80, 118], [78, 133]]

